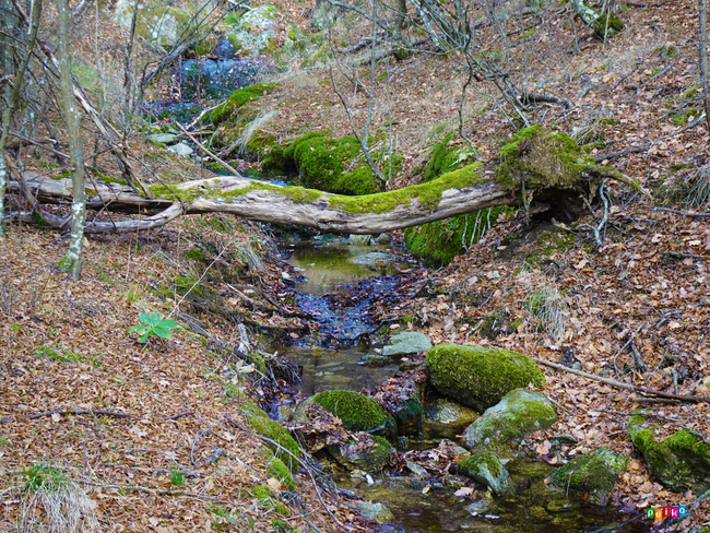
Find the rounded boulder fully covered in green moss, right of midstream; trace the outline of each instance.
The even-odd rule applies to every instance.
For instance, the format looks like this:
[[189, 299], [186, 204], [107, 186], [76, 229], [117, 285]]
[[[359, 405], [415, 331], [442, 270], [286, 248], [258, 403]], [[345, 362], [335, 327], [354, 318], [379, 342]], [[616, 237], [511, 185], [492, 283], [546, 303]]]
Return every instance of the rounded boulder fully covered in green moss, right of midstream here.
[[425, 367], [441, 394], [478, 412], [518, 387], [545, 382], [530, 357], [504, 348], [440, 344], [427, 352]]

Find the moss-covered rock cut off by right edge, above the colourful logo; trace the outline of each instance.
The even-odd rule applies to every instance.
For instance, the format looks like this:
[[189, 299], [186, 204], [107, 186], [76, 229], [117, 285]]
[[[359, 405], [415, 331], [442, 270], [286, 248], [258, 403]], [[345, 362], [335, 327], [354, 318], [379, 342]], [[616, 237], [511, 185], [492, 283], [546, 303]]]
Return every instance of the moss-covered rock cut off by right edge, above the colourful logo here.
[[689, 429], [658, 442], [653, 427], [644, 427], [646, 423], [643, 413], [638, 412], [629, 419], [627, 430], [653, 477], [676, 493], [690, 489], [701, 494], [710, 489], [710, 445]]

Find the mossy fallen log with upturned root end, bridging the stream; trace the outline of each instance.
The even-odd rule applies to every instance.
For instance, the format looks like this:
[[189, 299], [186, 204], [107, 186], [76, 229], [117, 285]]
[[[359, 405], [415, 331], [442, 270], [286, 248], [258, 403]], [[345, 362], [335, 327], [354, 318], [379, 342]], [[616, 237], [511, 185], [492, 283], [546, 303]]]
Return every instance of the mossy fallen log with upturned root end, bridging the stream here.
[[[497, 205], [536, 202], [573, 211], [581, 209], [580, 194], [594, 191], [603, 178], [635, 185], [620, 173], [596, 165], [566, 134], [532, 127], [521, 130], [501, 149], [499, 157], [486, 165], [475, 163], [427, 183], [376, 194], [346, 197], [241, 176], [215, 176], [153, 185], [150, 189], [155, 198], [147, 199], [127, 186], [96, 182], [87, 186], [88, 209], [146, 216], [91, 222], [86, 224], [86, 233], [144, 230], [187, 214], [220, 212], [324, 232], [376, 234]], [[71, 199], [70, 179], [52, 180], [27, 173], [24, 186], [39, 202], [66, 203]], [[9, 190], [20, 192], [21, 185], [11, 181]], [[54, 223], [54, 218], [48, 221], [50, 225]]]

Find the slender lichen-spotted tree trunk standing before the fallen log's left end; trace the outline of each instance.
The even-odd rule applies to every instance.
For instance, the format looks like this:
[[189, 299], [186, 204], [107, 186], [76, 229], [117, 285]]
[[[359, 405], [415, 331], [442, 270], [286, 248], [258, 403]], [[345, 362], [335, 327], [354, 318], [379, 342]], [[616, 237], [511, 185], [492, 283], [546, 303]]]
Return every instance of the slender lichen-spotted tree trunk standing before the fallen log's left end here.
[[58, 12], [58, 51], [61, 80], [61, 100], [64, 120], [69, 133], [70, 158], [72, 169], [72, 222], [69, 250], [60, 261], [61, 270], [79, 279], [81, 271], [82, 242], [86, 221], [86, 190], [84, 189], [84, 147], [81, 140], [80, 115], [74, 98], [72, 82], [71, 52], [69, 51], [69, 0], [57, 1]]

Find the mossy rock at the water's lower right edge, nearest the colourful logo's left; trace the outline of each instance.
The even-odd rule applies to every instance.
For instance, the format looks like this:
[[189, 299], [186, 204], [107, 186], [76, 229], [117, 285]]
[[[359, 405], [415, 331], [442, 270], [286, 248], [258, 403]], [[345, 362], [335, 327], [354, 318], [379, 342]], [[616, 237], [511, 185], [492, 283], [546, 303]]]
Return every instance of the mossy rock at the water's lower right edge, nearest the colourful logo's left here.
[[597, 448], [589, 455], [579, 455], [557, 470], [549, 481], [564, 490], [587, 495], [589, 501], [606, 505], [610, 494], [626, 470], [629, 458], [607, 448]]

